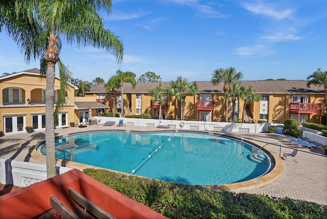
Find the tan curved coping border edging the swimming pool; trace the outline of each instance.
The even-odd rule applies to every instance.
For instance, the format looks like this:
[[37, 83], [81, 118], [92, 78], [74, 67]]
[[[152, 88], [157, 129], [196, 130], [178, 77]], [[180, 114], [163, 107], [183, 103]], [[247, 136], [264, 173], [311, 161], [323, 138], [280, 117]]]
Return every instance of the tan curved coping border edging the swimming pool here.
[[[171, 132], [171, 131], [176, 131], [176, 132], [194, 132], [194, 133], [205, 133], [205, 134], [218, 134], [218, 135], [222, 135], [222, 136], [226, 136], [226, 137], [230, 137], [230, 138], [235, 138], [238, 140], [242, 140], [244, 142], [259, 146], [260, 148], [263, 148], [265, 145], [260, 144], [260, 143], [255, 143], [254, 141], [239, 137], [239, 136], [234, 136], [234, 135], [229, 135], [226, 134], [224, 132], [212, 132], [212, 131], [205, 131], [205, 130], [176, 130], [176, 129], [166, 129], [166, 130], [151, 130], [151, 131], [139, 131], [139, 130], [125, 130], [125, 129], [120, 129], [120, 130], [108, 130], [108, 129], [103, 129], [103, 130], [92, 130], [92, 131], [87, 131], [87, 132], [74, 132], [68, 135], [60, 135], [60, 136], [56, 136], [56, 138], [60, 138], [63, 136], [70, 136], [70, 135], [76, 135], [76, 134], [81, 134], [81, 133], [92, 133], [92, 132], [135, 132], [135, 133], [149, 133], [149, 132]], [[41, 144], [44, 141], [40, 141], [37, 146], [39, 144]], [[46, 156], [41, 155], [38, 151], [37, 151], [37, 146], [35, 146], [35, 148], [30, 152], [30, 155], [32, 158], [36, 159], [36, 160], [41, 160], [41, 161], [45, 161], [46, 162]], [[263, 150], [265, 150], [266, 152], [269, 153], [269, 155], [271, 156], [271, 158], [274, 159], [274, 167], [270, 170], [270, 172], [268, 172], [267, 174], [265, 174], [264, 176], [258, 177], [258, 178], [254, 178], [251, 180], [247, 180], [247, 181], [242, 181], [242, 182], [238, 182], [238, 183], [229, 183], [229, 184], [220, 184], [220, 185], [204, 185], [204, 187], [207, 187], [209, 189], [214, 189], [214, 190], [226, 190], [226, 191], [233, 191], [233, 192], [244, 192], [250, 189], [256, 189], [256, 188], [260, 188], [263, 186], [266, 186], [268, 184], [271, 184], [273, 182], [275, 182], [276, 180], [278, 180], [279, 177], [281, 177], [283, 170], [284, 170], [284, 164], [282, 161], [282, 158], [279, 157], [279, 155], [277, 155], [273, 150], [269, 149], [269, 148], [263, 148]], [[87, 164], [82, 164], [82, 163], [77, 163], [74, 161], [66, 161], [66, 160], [61, 160], [58, 159], [57, 161], [57, 165], [58, 166], [66, 166], [66, 167], [70, 167], [70, 168], [77, 168], [80, 170], [83, 170], [85, 168], [94, 168], [94, 169], [105, 169], [102, 167], [97, 167], [97, 166], [92, 166], [92, 165], [87, 165]], [[109, 169], [110, 170], [110, 169]], [[119, 171], [115, 171], [115, 170], [110, 170], [110, 171], [114, 171], [114, 172], [119, 172]], [[121, 173], [125, 173], [125, 172], [121, 172]], [[125, 173], [125, 174], [129, 174], [129, 173]], [[133, 175], [134, 176], [134, 175]]]

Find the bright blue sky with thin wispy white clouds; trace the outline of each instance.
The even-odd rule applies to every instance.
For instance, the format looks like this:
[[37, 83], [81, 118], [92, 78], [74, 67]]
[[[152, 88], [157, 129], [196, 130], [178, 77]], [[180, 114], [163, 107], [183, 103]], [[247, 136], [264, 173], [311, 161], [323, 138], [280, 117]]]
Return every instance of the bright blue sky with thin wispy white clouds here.
[[[60, 57], [73, 78], [107, 81], [119, 69], [162, 81], [177, 76], [209, 81], [218, 68], [235, 67], [242, 80], [306, 80], [327, 71], [327, 1], [112, 0], [106, 29], [120, 36], [124, 59], [63, 43]], [[0, 34], [0, 75], [39, 68], [6, 32]]]

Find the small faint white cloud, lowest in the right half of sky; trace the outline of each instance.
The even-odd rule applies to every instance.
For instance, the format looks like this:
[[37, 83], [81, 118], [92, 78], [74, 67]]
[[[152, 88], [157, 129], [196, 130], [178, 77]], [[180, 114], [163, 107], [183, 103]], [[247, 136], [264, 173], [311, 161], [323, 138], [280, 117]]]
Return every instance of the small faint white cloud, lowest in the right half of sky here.
[[239, 47], [235, 49], [236, 53], [240, 56], [268, 56], [274, 54], [273, 49], [262, 45], [254, 45], [254, 46], [246, 46], [246, 47]]

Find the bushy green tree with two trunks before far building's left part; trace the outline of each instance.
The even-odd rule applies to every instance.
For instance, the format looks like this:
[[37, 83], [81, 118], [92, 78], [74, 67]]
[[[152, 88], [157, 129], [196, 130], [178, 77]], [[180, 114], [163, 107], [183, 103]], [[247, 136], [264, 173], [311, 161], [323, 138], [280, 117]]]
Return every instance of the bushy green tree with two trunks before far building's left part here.
[[135, 89], [136, 75], [133, 72], [122, 72], [121, 70], [116, 71], [116, 74], [111, 76], [108, 82], [104, 85], [106, 91], [111, 90], [111, 99], [112, 99], [112, 113], [115, 114], [115, 101], [114, 101], [114, 89], [121, 89], [122, 91], [122, 103], [121, 103], [121, 117], [124, 117], [124, 92], [123, 92], [123, 82], [128, 82], [132, 84], [132, 89]]

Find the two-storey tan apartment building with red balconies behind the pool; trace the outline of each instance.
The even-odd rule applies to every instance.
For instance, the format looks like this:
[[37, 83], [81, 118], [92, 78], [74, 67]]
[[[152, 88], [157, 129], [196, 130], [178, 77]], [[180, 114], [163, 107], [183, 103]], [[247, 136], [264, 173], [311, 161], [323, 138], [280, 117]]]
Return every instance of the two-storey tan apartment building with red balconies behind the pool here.
[[[149, 113], [152, 118], [159, 118], [158, 101], [153, 101], [148, 90], [158, 86], [159, 82], [139, 82], [135, 89], [130, 83], [123, 83], [123, 115]], [[195, 96], [186, 96], [185, 118], [197, 121], [225, 121], [225, 99], [223, 83], [213, 85], [211, 81], [197, 81], [199, 93]], [[243, 86], [252, 85], [256, 93], [262, 96], [259, 102], [247, 104], [245, 121], [258, 123], [283, 123], [286, 119], [295, 119], [301, 122], [320, 123], [322, 103], [325, 92], [317, 86], [307, 87], [305, 80], [286, 81], [241, 81]], [[170, 86], [170, 82], [161, 82], [162, 86]], [[104, 84], [91, 87], [85, 92], [88, 97], [112, 106], [111, 91], [106, 91]], [[115, 112], [121, 113], [121, 90], [114, 91]], [[174, 119], [175, 107], [177, 117], [181, 118], [181, 104], [177, 106], [174, 96], [166, 97], [166, 104], [162, 106], [162, 118]], [[234, 118], [242, 118], [244, 101], [237, 99], [235, 102]], [[228, 121], [231, 119], [232, 103], [229, 100]]]

